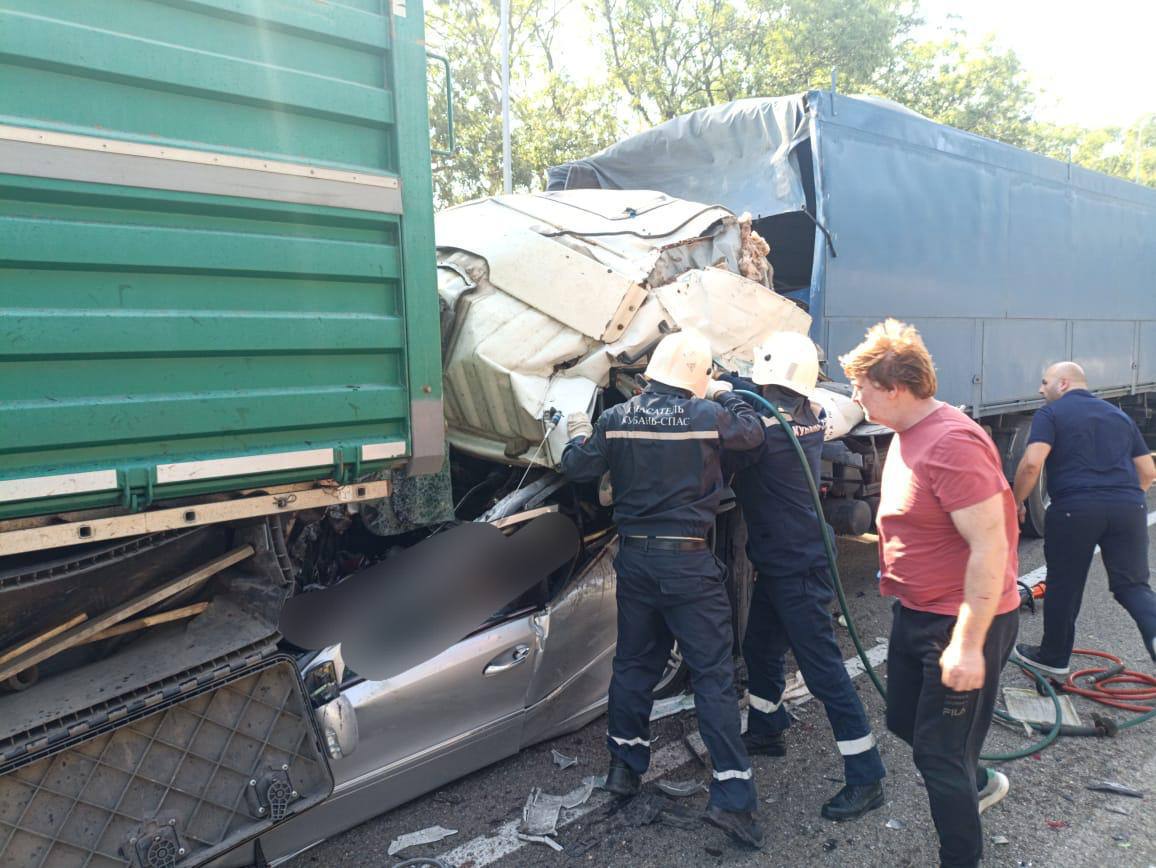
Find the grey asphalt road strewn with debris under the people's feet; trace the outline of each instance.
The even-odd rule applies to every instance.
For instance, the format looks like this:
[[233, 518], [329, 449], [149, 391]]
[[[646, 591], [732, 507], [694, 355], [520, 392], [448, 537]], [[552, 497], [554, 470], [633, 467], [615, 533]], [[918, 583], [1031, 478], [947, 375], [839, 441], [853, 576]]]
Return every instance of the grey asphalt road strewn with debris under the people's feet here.
[[[1149, 498], [1149, 512], [1156, 497]], [[1153, 517], [1149, 519], [1154, 520]], [[1156, 532], [1149, 526], [1149, 541]], [[842, 540], [840, 570], [859, 633], [868, 648], [883, 641], [890, 624], [889, 602], [876, 591], [874, 537]], [[1020, 573], [1043, 566], [1043, 544], [1020, 546]], [[1037, 641], [1042, 616], [1024, 613], [1021, 640]], [[1109, 651], [1140, 672], [1156, 674], [1140, 635], [1107, 592], [1103, 564], [1094, 561], [1077, 628], [1080, 647]], [[846, 630], [840, 629], [844, 656], [854, 656]], [[1079, 663], [1080, 659], [1074, 659]], [[794, 672], [793, 661], [790, 672]], [[881, 667], [885, 677], [887, 667]], [[390, 866], [415, 856], [442, 856], [458, 868], [514, 866], [931, 866], [938, 862], [938, 841], [927, 808], [927, 794], [911, 761], [911, 751], [890, 735], [883, 704], [864, 675], [854, 680], [880, 742], [888, 778], [887, 803], [850, 823], [820, 817], [822, 802], [842, 787], [842, 763], [818, 702], [794, 709], [785, 758], [755, 757], [762, 818], [766, 828], [763, 852], [741, 851], [726, 837], [692, 817], [705, 807], [705, 795], [675, 801], [691, 816], [677, 828], [659, 822], [638, 825], [643, 811], [613, 810], [600, 791], [581, 807], [563, 811], [557, 853], [516, 834], [521, 808], [534, 787], [563, 794], [591, 774], [605, 774], [606, 719], [580, 732], [536, 745], [484, 769], [444, 789], [377, 817], [297, 856], [292, 868], [364, 868]], [[1003, 687], [1030, 687], [1018, 668], [1008, 666]], [[1102, 706], [1074, 698], [1084, 722]], [[1119, 712], [1118, 717], [1126, 717]], [[684, 736], [696, 732], [692, 712], [654, 724], [653, 764], [649, 780], [709, 780], [691, 755]], [[1006, 752], [1027, 744], [1022, 730], [993, 726], [985, 752]], [[551, 749], [578, 757], [560, 770]], [[1011, 791], [984, 815], [987, 866], [1156, 866], [1156, 721], [1122, 732], [1116, 739], [1061, 739], [1025, 759], [1000, 766]], [[1094, 780], [1113, 780], [1147, 792], [1142, 800], [1087, 789]], [[457, 834], [438, 844], [387, 855], [390, 841], [407, 832], [442, 825]], [[1006, 841], [1006, 843], [1002, 843]]]

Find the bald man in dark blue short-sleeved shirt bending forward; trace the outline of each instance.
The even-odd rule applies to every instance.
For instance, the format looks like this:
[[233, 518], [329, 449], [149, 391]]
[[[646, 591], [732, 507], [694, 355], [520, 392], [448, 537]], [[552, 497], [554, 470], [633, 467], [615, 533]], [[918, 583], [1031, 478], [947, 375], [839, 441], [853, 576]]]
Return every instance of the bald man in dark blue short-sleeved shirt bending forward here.
[[1044, 638], [1039, 645], [1017, 645], [1011, 658], [1067, 676], [1088, 567], [1099, 546], [1107, 586], [1136, 622], [1144, 650], [1156, 660], [1147, 500], [1156, 463], [1148, 445], [1127, 414], [1088, 391], [1088, 378], [1075, 362], [1048, 368], [1039, 394], [1047, 406], [1031, 421], [1014, 491], [1022, 521], [1023, 502], [1046, 466], [1052, 502], [1044, 520]]

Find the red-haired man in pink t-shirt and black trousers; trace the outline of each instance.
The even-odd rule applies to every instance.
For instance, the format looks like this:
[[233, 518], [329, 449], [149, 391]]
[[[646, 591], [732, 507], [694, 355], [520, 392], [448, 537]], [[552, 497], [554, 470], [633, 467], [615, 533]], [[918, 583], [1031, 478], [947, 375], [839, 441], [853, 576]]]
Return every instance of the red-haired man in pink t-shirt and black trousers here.
[[887, 726], [927, 785], [941, 865], [976, 866], [979, 815], [1008, 779], [978, 765], [1018, 628], [1020, 524], [991, 438], [935, 400], [919, 333], [889, 319], [839, 359], [867, 418], [896, 435], [876, 518], [880, 591], [896, 598]]

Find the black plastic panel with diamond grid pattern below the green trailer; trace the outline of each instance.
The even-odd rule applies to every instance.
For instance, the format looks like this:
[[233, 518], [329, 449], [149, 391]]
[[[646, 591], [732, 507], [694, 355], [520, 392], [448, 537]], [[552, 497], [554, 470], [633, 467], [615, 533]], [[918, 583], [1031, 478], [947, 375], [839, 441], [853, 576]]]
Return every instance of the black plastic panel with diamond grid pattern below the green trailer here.
[[0, 766], [0, 866], [193, 868], [333, 792], [292, 659], [160, 687], [148, 709]]

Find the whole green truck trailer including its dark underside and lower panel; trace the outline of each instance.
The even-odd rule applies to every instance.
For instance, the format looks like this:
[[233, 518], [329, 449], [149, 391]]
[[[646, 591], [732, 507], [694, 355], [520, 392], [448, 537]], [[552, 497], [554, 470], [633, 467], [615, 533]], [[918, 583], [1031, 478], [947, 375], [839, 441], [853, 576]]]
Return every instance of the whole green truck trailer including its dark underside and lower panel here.
[[0, 865], [327, 795], [276, 624], [444, 463], [428, 62], [406, 0], [0, 2]]

